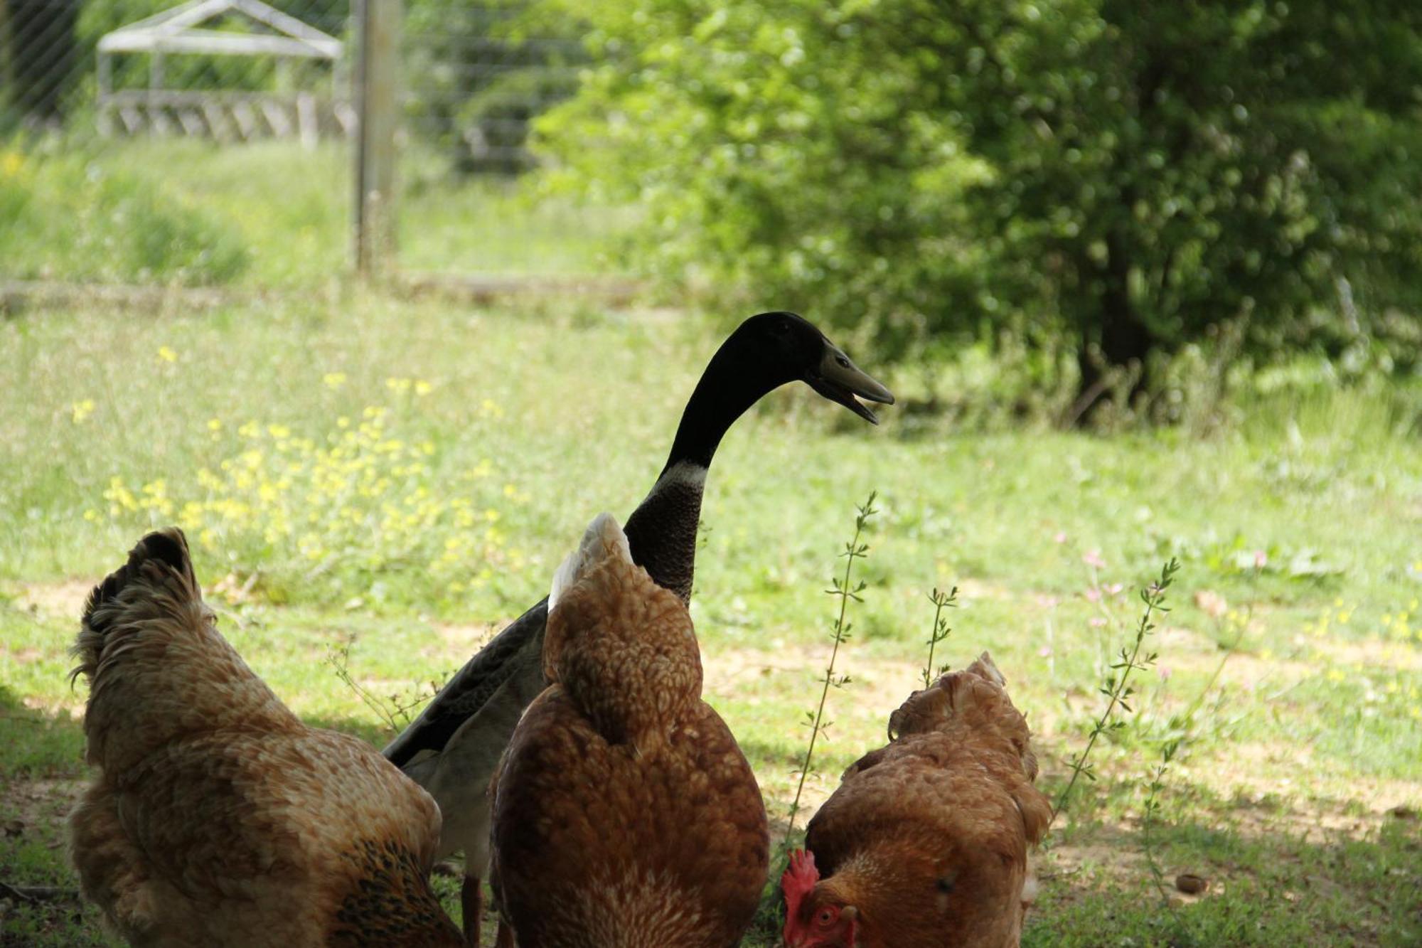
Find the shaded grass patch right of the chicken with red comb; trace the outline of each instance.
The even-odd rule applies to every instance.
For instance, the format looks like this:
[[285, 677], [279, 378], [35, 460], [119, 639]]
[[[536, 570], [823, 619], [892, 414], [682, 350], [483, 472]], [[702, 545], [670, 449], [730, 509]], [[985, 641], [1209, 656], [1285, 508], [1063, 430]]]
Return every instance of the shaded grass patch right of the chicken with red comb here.
[[[1108, 796], [1129, 801], [1136, 786], [1118, 781]], [[1422, 827], [1409, 811], [1344, 821], [1351, 801], [1224, 797], [1185, 781], [1166, 796], [1150, 830], [1165, 897], [1135, 817], [1058, 827], [1022, 945], [1422, 944]], [[1325, 817], [1344, 826], [1325, 828]], [[1206, 877], [1209, 891], [1182, 895], [1180, 873]]]

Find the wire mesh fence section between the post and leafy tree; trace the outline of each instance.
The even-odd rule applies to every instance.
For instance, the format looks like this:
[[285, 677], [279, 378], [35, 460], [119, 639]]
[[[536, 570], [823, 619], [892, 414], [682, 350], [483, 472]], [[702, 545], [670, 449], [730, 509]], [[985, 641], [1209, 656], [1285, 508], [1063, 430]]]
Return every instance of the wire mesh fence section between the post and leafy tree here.
[[400, 262], [410, 270], [606, 273], [623, 212], [542, 196], [530, 130], [587, 64], [576, 23], [522, 0], [407, 0]]

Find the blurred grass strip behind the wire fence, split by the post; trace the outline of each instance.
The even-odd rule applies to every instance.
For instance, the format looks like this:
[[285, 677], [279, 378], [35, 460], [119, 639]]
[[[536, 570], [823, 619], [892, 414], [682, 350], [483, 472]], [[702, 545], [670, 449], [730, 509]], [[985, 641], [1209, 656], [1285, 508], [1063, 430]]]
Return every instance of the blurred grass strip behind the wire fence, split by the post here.
[[[397, 246], [411, 270], [566, 276], [613, 269], [624, 212], [458, 178], [412, 149]], [[350, 260], [351, 149], [269, 141], [38, 139], [0, 145], [0, 278], [317, 286]], [[602, 235], [594, 238], [593, 235]]]

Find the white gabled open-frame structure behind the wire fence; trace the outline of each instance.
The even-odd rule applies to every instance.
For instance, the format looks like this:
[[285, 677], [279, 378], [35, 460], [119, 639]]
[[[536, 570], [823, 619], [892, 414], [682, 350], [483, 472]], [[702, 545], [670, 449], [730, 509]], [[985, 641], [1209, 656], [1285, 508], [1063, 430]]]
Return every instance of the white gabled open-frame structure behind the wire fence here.
[[[205, 28], [218, 17], [240, 16], [250, 31]], [[115, 54], [149, 57], [146, 88], [114, 88]], [[277, 91], [164, 88], [166, 56], [273, 57]], [[356, 131], [336, 37], [262, 0], [189, 0], [119, 27], [98, 41], [98, 122], [104, 134], [175, 134], [218, 141], [299, 137], [314, 147], [323, 135]], [[289, 88], [294, 60], [331, 64], [331, 88]]]

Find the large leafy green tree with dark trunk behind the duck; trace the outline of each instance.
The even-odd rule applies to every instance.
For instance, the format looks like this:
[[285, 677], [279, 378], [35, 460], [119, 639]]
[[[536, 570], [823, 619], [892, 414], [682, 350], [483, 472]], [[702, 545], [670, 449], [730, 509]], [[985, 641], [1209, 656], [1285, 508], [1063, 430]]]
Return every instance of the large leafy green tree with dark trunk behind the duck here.
[[1416, 330], [1419, 4], [545, 3], [599, 63], [549, 181], [644, 202], [664, 275], [880, 343], [1065, 333], [1084, 390], [1221, 323]]

